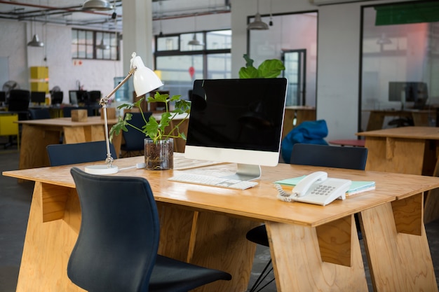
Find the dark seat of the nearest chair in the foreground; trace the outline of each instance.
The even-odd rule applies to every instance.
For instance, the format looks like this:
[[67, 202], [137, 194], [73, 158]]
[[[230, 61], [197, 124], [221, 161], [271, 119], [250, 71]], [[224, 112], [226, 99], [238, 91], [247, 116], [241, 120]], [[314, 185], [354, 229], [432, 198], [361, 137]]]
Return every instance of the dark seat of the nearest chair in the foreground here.
[[149, 292], [186, 292], [218, 279], [230, 280], [231, 275], [157, 255]]

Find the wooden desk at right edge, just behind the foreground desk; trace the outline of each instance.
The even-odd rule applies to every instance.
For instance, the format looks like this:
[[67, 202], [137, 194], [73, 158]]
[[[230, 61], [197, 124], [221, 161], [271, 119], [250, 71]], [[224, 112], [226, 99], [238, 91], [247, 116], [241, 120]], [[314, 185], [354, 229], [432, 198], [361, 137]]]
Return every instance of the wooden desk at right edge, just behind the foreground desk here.
[[[368, 148], [366, 169], [439, 176], [439, 127], [397, 127], [359, 132]], [[426, 195], [424, 221], [439, 218], [439, 189]]]

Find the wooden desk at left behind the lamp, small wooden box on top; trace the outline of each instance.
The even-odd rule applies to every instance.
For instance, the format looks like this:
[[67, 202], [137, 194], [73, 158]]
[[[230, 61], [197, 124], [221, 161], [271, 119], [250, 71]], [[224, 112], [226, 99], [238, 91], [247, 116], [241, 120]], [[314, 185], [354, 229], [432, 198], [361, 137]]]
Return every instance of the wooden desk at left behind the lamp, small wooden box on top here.
[[[72, 122], [72, 118], [50, 118], [20, 120], [18, 123], [22, 124], [20, 169], [49, 166], [46, 146], [59, 144], [62, 132], [66, 144], [105, 139], [104, 120], [99, 116], [88, 117], [86, 122]], [[117, 123], [117, 120], [108, 120], [108, 123], [111, 127], [111, 125]], [[113, 144], [116, 153], [119, 153], [121, 137], [113, 139]]]

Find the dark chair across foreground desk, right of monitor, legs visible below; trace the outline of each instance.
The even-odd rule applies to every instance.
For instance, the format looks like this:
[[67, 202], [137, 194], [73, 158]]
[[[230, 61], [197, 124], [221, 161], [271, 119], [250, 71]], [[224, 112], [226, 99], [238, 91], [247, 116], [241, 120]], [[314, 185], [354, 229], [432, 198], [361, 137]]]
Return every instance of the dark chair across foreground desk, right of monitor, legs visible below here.
[[[367, 148], [364, 147], [294, 144], [294, 146], [292, 146], [290, 164], [364, 170], [366, 167], [366, 160]], [[361, 239], [360, 221], [357, 214], [355, 214], [354, 217], [356, 220], [358, 237]], [[247, 232], [245, 237], [250, 240], [250, 242], [255, 242], [262, 246], [269, 246], [269, 238], [266, 234], [265, 225], [259, 225], [252, 228]], [[264, 270], [262, 270], [262, 273], [255, 281], [255, 284], [253, 284], [250, 292], [256, 291], [256, 288], [262, 284], [262, 281], [268, 276], [269, 272], [273, 270], [273, 267], [268, 270], [270, 264], [271, 259], [264, 267]], [[274, 279], [271, 279], [267, 284], [262, 286], [262, 288], [270, 284], [273, 280]], [[262, 290], [262, 288], [257, 291]]]

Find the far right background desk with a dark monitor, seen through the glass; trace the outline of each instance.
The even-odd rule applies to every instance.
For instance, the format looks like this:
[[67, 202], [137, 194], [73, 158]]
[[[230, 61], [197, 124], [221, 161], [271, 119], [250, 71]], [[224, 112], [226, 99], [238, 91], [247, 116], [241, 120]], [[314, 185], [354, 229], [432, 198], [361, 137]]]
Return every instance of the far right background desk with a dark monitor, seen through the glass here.
[[417, 127], [428, 127], [430, 125], [429, 118], [436, 117], [435, 110], [419, 110], [407, 109], [404, 111], [394, 110], [372, 110], [370, 111], [369, 120], [367, 122], [367, 131], [381, 130], [383, 128], [384, 118], [388, 116], [399, 118], [411, 118]]

